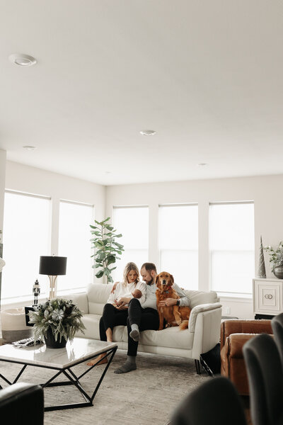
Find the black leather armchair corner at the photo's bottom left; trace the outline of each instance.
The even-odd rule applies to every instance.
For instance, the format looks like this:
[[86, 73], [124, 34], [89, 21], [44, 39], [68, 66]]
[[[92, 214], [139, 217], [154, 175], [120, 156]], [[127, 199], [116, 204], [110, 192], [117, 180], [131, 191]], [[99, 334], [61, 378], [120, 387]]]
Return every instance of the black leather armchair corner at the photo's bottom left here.
[[9, 424], [43, 425], [42, 387], [19, 382], [0, 390], [0, 417]]

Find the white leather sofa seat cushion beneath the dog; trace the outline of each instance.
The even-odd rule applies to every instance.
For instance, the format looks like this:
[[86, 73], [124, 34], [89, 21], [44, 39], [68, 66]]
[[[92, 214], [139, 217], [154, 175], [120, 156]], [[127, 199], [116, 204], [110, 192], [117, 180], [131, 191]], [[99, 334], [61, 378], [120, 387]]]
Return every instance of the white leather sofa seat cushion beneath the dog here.
[[162, 331], [143, 331], [140, 342], [149, 346], [190, 349], [193, 338], [187, 329], [180, 331], [179, 327], [170, 327]]

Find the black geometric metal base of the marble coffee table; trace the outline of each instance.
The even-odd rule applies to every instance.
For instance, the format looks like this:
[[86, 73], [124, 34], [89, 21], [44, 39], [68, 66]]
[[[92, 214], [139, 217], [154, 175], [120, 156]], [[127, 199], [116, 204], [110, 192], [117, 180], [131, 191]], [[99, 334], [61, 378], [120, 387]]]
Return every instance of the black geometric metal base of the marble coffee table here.
[[[77, 388], [77, 390], [79, 390], [79, 392], [81, 393], [81, 395], [83, 395], [83, 398], [86, 400], [86, 402], [69, 403], [69, 404], [58, 404], [56, 406], [47, 406], [47, 407], [45, 407], [45, 412], [48, 412], [50, 410], [74, 409], [76, 407], [89, 407], [89, 406], [93, 406], [93, 399], [94, 399], [94, 397], [96, 397], [96, 392], [98, 392], [98, 388], [100, 387], [100, 384], [103, 381], [103, 378], [105, 376], [105, 373], [107, 372], [107, 370], [108, 370], [108, 368], [110, 366], [110, 363], [112, 362], [112, 358], [114, 357], [116, 351], [117, 351], [117, 346], [115, 346], [114, 348], [110, 348], [110, 350], [108, 350], [108, 351], [104, 351], [103, 353], [100, 353], [100, 354], [105, 354], [103, 356], [103, 358], [101, 358], [101, 361], [104, 358], [108, 357], [109, 355], [110, 355], [110, 358], [108, 360], [107, 365], [105, 366], [105, 369], [103, 370], [103, 373], [102, 373], [100, 379], [98, 380], [98, 384], [96, 385], [96, 388], [93, 391], [92, 395], [88, 395], [88, 393], [86, 392], [86, 390], [84, 390], [83, 385], [81, 385], [80, 379], [83, 378], [84, 375], [86, 375], [87, 373], [89, 373], [93, 368], [95, 368], [98, 363], [96, 363], [95, 365], [90, 366], [85, 372], [81, 373], [81, 375], [79, 375], [79, 376], [76, 376], [76, 374], [73, 372], [73, 370], [71, 370], [71, 368], [64, 368], [64, 369], [53, 368], [53, 367], [51, 368], [51, 367], [48, 367], [48, 366], [34, 365], [34, 364], [30, 364], [30, 363], [25, 363], [23, 365], [23, 368], [21, 368], [21, 371], [16, 376], [15, 380], [13, 380], [13, 382], [10, 382], [7, 378], [4, 377], [4, 375], [1, 375], [1, 373], [0, 373], [0, 378], [2, 378], [5, 382], [7, 382], [8, 385], [15, 384], [18, 381], [18, 379], [21, 377], [23, 371], [25, 370], [25, 368], [28, 365], [32, 365], [32, 366], [35, 366], [37, 368], [59, 370], [57, 373], [55, 373], [54, 376], [52, 376], [52, 378], [50, 378], [49, 380], [47, 380], [47, 382], [45, 382], [44, 384], [40, 384], [40, 385], [43, 388], [45, 388], [45, 387], [61, 387], [63, 385], [74, 385]], [[92, 356], [91, 358], [93, 358], [93, 357], [94, 356]], [[1, 361], [5, 361], [5, 360], [1, 359]], [[84, 359], [83, 361], [87, 361], [87, 359]], [[83, 363], [83, 361], [80, 361], [79, 363], [76, 363], [76, 365], [78, 365], [80, 363]], [[7, 362], [8, 363], [19, 363], [17, 361], [7, 361]], [[59, 381], [59, 382], [52, 382], [54, 379], [56, 379], [62, 373], [66, 376], [66, 378], [68, 380]], [[2, 389], [1, 385], [0, 385], [0, 388]]]

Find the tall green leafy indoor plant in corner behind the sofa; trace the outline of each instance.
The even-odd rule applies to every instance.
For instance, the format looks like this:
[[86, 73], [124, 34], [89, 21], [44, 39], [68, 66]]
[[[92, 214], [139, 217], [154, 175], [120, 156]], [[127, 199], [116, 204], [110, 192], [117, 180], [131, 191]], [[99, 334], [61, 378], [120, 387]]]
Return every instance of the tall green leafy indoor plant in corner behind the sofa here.
[[117, 254], [122, 254], [124, 246], [115, 241], [117, 237], [122, 237], [122, 234], [115, 234], [116, 229], [109, 225], [108, 220], [110, 220], [110, 217], [102, 222], [95, 220], [99, 227], [90, 225], [91, 234], [94, 235], [91, 243], [93, 244], [93, 249], [96, 249], [95, 254], [92, 255], [95, 261], [93, 268], [100, 268], [96, 273], [96, 277], [102, 278], [105, 275], [107, 277], [107, 283], [112, 283], [111, 272], [116, 267], [110, 268], [109, 266], [110, 264], [114, 264], [116, 260], [120, 260]]

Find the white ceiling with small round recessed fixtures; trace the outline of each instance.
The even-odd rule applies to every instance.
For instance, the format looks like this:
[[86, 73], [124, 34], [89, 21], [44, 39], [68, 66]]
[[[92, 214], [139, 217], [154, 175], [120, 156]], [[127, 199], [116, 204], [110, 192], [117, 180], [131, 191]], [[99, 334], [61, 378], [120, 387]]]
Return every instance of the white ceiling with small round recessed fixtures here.
[[282, 0], [0, 0], [0, 40], [11, 161], [105, 185], [283, 173]]

